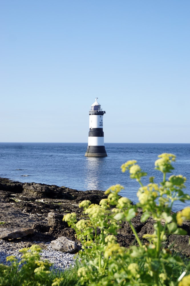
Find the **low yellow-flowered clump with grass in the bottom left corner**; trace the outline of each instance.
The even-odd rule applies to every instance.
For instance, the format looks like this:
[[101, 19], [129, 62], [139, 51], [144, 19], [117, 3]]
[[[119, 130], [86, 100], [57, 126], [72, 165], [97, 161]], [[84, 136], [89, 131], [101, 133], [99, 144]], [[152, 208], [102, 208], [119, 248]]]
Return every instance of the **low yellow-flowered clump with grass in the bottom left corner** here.
[[48, 260], [40, 260], [40, 247], [32, 245], [23, 248], [21, 261], [15, 256], [7, 257], [10, 265], [0, 264], [1, 286], [70, 286], [77, 283], [77, 267], [64, 272], [50, 271], [52, 264]]

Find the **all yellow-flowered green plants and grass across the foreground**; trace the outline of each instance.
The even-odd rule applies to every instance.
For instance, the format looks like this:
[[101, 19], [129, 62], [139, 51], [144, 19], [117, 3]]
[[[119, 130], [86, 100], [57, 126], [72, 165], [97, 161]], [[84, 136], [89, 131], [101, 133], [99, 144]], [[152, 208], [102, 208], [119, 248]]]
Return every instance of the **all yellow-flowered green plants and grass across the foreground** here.
[[[120, 197], [123, 187], [115, 185], [106, 191], [108, 198], [101, 200], [99, 205], [91, 204], [89, 200], [79, 204], [84, 209], [81, 220], [77, 221], [75, 213], [64, 216], [63, 220], [76, 231], [76, 237], [82, 243], [76, 267], [63, 273], [50, 271], [51, 264], [40, 261], [40, 249], [32, 246], [21, 250], [24, 254], [20, 262], [11, 256], [7, 258], [11, 266], [0, 265], [0, 285], [190, 285], [189, 258], [172, 254], [165, 248], [167, 235], [186, 234], [179, 226], [190, 219], [190, 207], [177, 215], [171, 213], [175, 200], [190, 200], [183, 192], [186, 178], [172, 175], [167, 179], [167, 173], [173, 170], [175, 156], [164, 153], [158, 157], [155, 169], [163, 173], [160, 184], [154, 183], [151, 177], [144, 186], [141, 178], [147, 174], [135, 160], [121, 166], [122, 172], [129, 171], [130, 178], [140, 184], [136, 205], [128, 198]], [[149, 217], [155, 221], [154, 233], [144, 235], [144, 242], [132, 224], [138, 208], [143, 211], [142, 222]], [[137, 242], [129, 249], [120, 247], [116, 241], [115, 235], [122, 221], [128, 221]]]

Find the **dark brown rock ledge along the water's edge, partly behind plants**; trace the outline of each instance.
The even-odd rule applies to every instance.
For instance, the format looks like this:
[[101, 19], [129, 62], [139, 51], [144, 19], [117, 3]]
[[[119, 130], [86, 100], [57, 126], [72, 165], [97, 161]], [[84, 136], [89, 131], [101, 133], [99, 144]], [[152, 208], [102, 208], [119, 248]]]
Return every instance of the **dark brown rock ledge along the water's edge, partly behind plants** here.
[[[100, 190], [78, 191], [64, 186], [37, 183], [24, 184], [0, 178], [0, 221], [3, 222], [0, 230], [32, 229], [31, 233], [28, 233], [22, 239], [29, 243], [33, 241], [52, 241], [60, 236], [77, 242], [74, 230], [62, 221], [63, 216], [75, 212], [77, 218], [81, 219], [83, 214], [78, 204], [82, 200], [90, 200], [94, 204], [99, 204], [100, 200], [106, 197], [104, 192]], [[139, 238], [146, 242], [143, 235], [153, 233], [155, 221], [149, 218], [142, 223], [140, 221], [141, 215], [142, 210], [138, 209], [138, 214], [132, 219], [132, 224]], [[164, 222], [162, 223], [164, 224]], [[189, 221], [182, 225], [182, 228], [187, 231], [187, 236], [170, 235], [166, 242], [170, 249], [185, 253], [188, 256], [190, 256], [189, 225]], [[117, 239], [121, 246], [129, 247], [136, 244], [135, 236], [128, 222], [122, 223], [118, 230]]]

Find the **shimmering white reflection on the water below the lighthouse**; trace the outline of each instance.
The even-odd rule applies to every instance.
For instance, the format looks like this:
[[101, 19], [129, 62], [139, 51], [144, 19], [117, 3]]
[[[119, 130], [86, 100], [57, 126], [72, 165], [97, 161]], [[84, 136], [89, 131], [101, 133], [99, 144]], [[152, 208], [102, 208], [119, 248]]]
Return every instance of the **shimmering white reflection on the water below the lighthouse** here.
[[87, 190], [101, 190], [104, 158], [86, 157], [84, 184]]

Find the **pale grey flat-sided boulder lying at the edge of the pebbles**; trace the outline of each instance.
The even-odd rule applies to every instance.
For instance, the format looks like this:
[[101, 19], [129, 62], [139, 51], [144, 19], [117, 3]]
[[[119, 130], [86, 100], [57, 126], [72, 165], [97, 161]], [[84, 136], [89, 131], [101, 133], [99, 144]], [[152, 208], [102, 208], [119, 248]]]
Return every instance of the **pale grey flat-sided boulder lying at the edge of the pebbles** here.
[[58, 237], [56, 240], [52, 240], [50, 245], [52, 248], [62, 252], [75, 253], [79, 250], [75, 241], [64, 236]]

